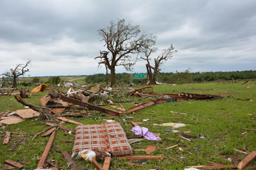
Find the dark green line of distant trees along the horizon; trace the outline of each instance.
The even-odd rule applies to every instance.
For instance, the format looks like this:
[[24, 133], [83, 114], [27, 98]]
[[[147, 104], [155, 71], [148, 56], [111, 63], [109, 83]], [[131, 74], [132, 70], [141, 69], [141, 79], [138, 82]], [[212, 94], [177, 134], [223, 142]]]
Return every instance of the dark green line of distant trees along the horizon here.
[[[146, 73], [145, 73], [146, 74]], [[205, 81], [218, 81], [218, 80], [248, 80], [256, 79], [256, 70], [245, 71], [232, 71], [232, 72], [191, 72], [191, 69], [184, 70], [183, 72], [163, 72], [172, 83], [196, 83]], [[115, 74], [116, 84], [120, 83], [129, 84], [130, 75], [126, 72]], [[86, 83], [101, 83], [106, 74], [94, 74], [86, 77]], [[156, 75], [156, 80], [159, 82], [167, 82], [167, 78], [161, 74]], [[110, 74], [106, 76], [106, 84], [110, 83]], [[133, 79], [132, 83], [147, 83], [146, 79]]]

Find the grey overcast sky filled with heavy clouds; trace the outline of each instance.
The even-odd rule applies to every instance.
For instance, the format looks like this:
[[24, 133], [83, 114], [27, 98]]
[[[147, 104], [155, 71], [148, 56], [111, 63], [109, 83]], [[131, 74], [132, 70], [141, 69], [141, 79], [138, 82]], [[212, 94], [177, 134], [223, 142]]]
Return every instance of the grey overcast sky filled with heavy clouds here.
[[[256, 70], [256, 1], [0, 0], [0, 74], [31, 59], [26, 76], [105, 73], [97, 30], [126, 19], [157, 36], [154, 58], [178, 50], [162, 72]], [[134, 72], [146, 72], [137, 61]], [[116, 67], [116, 73], [126, 72]]]

